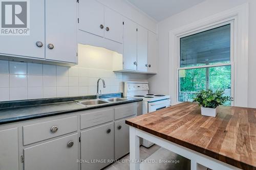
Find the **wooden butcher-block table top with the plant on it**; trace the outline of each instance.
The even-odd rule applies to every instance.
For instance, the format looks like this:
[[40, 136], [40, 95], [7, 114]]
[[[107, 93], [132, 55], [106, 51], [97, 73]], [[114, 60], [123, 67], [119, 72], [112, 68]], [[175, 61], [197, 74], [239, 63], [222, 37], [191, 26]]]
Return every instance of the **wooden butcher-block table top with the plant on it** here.
[[256, 169], [256, 109], [217, 107], [201, 115], [185, 102], [126, 120], [126, 124], [242, 169]]

